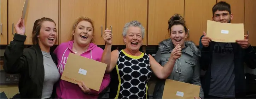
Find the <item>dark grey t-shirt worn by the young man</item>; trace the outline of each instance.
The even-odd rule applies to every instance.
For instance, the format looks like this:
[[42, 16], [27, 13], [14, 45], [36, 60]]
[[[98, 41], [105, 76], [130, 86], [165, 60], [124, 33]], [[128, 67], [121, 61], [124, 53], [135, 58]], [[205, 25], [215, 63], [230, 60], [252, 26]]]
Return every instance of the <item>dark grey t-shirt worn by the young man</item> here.
[[231, 43], [216, 42], [211, 63], [209, 95], [235, 97], [234, 53]]

